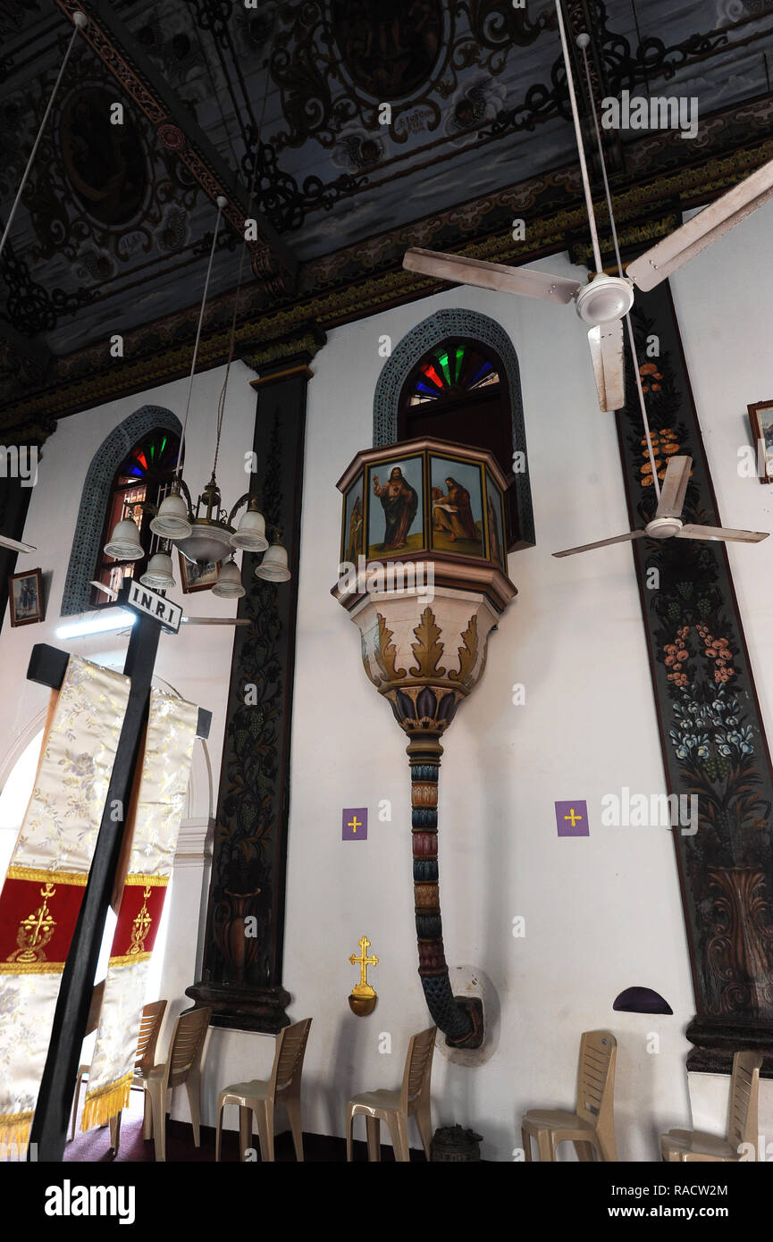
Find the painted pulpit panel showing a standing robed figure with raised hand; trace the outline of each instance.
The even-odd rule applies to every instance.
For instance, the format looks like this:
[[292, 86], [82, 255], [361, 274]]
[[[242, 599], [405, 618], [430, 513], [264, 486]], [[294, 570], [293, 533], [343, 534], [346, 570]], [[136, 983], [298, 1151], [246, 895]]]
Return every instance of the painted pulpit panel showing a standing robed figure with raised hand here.
[[368, 556], [425, 546], [423, 471], [421, 457], [368, 468]]

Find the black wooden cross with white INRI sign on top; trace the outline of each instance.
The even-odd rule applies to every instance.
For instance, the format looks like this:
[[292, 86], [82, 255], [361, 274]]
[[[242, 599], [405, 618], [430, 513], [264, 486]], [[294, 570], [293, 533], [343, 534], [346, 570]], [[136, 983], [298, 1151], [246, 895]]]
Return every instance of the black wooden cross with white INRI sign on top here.
[[[162, 630], [176, 632], [183, 614], [179, 604], [173, 604], [172, 600], [167, 600], [158, 592], [140, 587], [130, 579], [122, 585], [117, 602], [135, 614], [123, 666], [124, 676], [130, 678], [132, 687], [116, 750], [113, 774], [104, 800], [104, 812], [88, 873], [88, 883], [62, 971], [46, 1067], [30, 1131], [27, 1160], [32, 1158], [35, 1144], [37, 1144], [39, 1160], [60, 1161], [65, 1154], [70, 1110], [81, 1061], [81, 1045], [88, 1025], [104, 919], [111, 904], [123, 841], [124, 825], [122, 821], [116, 822], [111, 818], [111, 807], [116, 805], [117, 800], [124, 807], [129, 805], [139, 744], [148, 718], [158, 640]], [[30, 657], [27, 679], [58, 689], [65, 678], [68, 660], [68, 652], [50, 647], [47, 643], [36, 643]], [[211, 719], [211, 712], [199, 708], [198, 738], [209, 737]]]

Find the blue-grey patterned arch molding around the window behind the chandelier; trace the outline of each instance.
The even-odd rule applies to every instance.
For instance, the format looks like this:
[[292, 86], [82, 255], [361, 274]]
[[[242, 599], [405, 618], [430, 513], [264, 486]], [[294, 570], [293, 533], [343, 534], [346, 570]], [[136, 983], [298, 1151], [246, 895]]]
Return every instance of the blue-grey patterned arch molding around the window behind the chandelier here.
[[91, 611], [89, 581], [99, 554], [99, 539], [104, 527], [104, 514], [122, 460], [134, 447], [138, 440], [155, 427], [174, 431], [178, 436], [183, 425], [172, 410], [163, 405], [143, 405], [114, 427], [102, 441], [92, 457], [76, 523], [72, 551], [67, 566], [67, 579], [62, 595], [60, 615], [72, 616]]

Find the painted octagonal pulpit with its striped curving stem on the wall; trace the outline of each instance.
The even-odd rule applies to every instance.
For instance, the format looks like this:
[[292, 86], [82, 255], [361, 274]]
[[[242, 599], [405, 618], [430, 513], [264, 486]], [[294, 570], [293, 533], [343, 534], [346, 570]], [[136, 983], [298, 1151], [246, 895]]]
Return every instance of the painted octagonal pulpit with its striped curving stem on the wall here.
[[437, 873], [440, 738], [480, 681], [507, 578], [506, 481], [490, 452], [409, 440], [359, 452], [343, 493], [333, 596], [360, 631], [365, 673], [409, 738], [419, 975], [447, 1043], [483, 1041], [480, 1001], [454, 996]]

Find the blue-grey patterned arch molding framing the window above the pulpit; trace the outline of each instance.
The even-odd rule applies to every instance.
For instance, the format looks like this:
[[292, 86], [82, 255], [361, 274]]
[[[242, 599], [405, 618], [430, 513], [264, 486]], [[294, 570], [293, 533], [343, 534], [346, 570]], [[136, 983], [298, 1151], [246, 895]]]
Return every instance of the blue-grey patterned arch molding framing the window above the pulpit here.
[[403, 337], [391, 351], [382, 369], [373, 397], [373, 447], [393, 445], [398, 438], [398, 407], [403, 385], [411, 370], [435, 345], [449, 337], [470, 337], [488, 345], [498, 354], [507, 376], [510, 390], [513, 451], [519, 450], [526, 458], [527, 468], [516, 476], [516, 504], [518, 529], [524, 544], [534, 543], [534, 513], [532, 509], [532, 491], [528, 481], [528, 453], [526, 448], [526, 425], [523, 422], [523, 401], [521, 397], [521, 369], [518, 355], [505, 329], [488, 315], [478, 310], [450, 308], [436, 310]]

